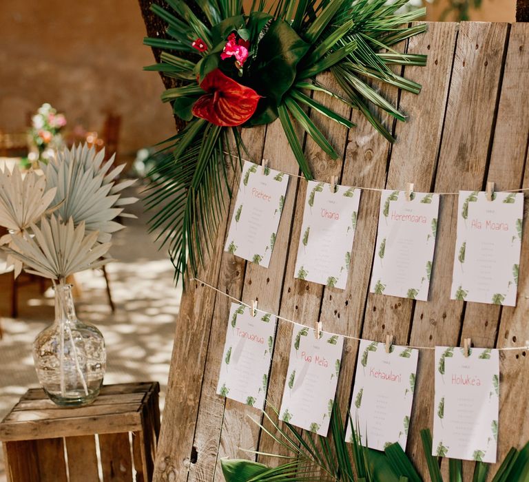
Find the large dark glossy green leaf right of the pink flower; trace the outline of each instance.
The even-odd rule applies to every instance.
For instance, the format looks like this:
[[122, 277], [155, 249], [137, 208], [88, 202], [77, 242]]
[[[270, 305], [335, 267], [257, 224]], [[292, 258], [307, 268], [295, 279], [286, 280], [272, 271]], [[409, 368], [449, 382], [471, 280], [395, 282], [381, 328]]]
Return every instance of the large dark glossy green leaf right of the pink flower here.
[[295, 67], [309, 48], [287, 22], [271, 22], [258, 44], [251, 76], [245, 82], [262, 96], [248, 125], [271, 123], [278, 117], [278, 105], [295, 80]]

